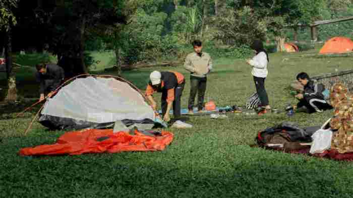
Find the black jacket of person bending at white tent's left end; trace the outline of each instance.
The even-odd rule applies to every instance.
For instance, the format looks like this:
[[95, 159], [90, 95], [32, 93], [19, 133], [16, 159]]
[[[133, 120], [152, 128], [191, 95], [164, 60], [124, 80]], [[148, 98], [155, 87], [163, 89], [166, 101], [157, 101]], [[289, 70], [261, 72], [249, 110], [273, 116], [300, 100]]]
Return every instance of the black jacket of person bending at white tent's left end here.
[[50, 91], [54, 91], [58, 86], [60, 86], [64, 78], [65, 76], [63, 68], [56, 64], [47, 64], [45, 74], [41, 74], [39, 72], [36, 73], [36, 80], [38, 83], [40, 83], [39, 91], [41, 94], [43, 94], [45, 91], [45, 80], [52, 81], [52, 85], [50, 86], [52, 90]]

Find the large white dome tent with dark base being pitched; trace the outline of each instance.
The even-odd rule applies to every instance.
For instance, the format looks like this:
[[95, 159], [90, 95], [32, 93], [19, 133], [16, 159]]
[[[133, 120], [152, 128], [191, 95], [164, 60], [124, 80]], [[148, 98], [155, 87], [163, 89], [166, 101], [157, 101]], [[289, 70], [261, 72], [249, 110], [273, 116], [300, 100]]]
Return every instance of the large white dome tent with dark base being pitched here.
[[76, 78], [48, 99], [39, 122], [53, 129], [97, 128], [117, 120], [154, 123], [154, 111], [131, 83], [113, 76]]

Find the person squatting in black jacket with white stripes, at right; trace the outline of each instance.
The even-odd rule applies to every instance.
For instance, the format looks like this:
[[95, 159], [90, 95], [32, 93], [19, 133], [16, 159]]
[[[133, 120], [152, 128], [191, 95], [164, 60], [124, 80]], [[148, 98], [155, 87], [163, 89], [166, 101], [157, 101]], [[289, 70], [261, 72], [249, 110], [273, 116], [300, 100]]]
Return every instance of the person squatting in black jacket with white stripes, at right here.
[[332, 106], [325, 100], [323, 92], [325, 86], [310, 79], [305, 72], [297, 75], [297, 80], [304, 86], [303, 93], [295, 95], [299, 100], [295, 109], [307, 113], [322, 112], [323, 110], [332, 109]]

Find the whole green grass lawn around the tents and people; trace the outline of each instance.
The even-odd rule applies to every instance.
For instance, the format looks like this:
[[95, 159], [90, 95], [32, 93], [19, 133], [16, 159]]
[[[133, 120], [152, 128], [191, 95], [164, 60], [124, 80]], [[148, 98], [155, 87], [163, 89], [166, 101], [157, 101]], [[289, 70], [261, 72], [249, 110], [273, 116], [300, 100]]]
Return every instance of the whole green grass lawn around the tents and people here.
[[[273, 108], [296, 100], [288, 86], [299, 72], [309, 75], [352, 69], [352, 57], [301, 57], [314, 53], [270, 54], [266, 89]], [[108, 57], [109, 55], [106, 55]], [[107, 58], [106, 58], [107, 59]], [[101, 65], [100, 68], [104, 68]], [[216, 59], [208, 77], [206, 100], [218, 106], [245, 105], [255, 90], [244, 60]], [[177, 68], [148, 68], [123, 76], [145, 89], [153, 70], [175, 70], [187, 79], [182, 106], [187, 107], [189, 74]], [[109, 73], [114, 75], [113, 73]], [[19, 76], [22, 75], [18, 74]], [[0, 77], [1, 78], [1, 77]], [[26, 80], [24, 80], [26, 79]], [[19, 85], [31, 78], [18, 78]], [[36, 93], [37, 90], [19, 90]], [[156, 95], [155, 97], [158, 98]], [[226, 119], [193, 116], [190, 129], [167, 128], [174, 140], [162, 152], [21, 157], [24, 147], [52, 144], [65, 131], [47, 131], [35, 123], [24, 137], [37, 109], [16, 117], [28, 104], [0, 107], [0, 197], [352, 197], [353, 165], [308, 156], [252, 148], [258, 130], [282, 121], [321, 125], [332, 111], [264, 116], [228, 114]]]

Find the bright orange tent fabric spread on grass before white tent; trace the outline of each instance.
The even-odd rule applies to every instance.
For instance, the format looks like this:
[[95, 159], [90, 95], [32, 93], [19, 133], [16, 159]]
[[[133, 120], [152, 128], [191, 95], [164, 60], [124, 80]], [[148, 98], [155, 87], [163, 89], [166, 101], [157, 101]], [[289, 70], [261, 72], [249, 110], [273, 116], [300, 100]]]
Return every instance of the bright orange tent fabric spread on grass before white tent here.
[[[98, 141], [98, 138], [107, 137]], [[72, 131], [57, 139], [56, 144], [21, 149], [24, 156], [81, 155], [84, 153], [119, 153], [123, 151], [162, 151], [173, 140], [173, 134], [162, 131], [162, 136], [146, 136], [139, 131], [135, 135], [126, 132], [113, 133], [112, 129], [88, 129]]]

